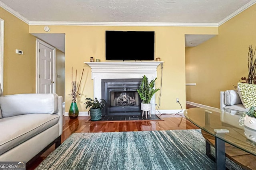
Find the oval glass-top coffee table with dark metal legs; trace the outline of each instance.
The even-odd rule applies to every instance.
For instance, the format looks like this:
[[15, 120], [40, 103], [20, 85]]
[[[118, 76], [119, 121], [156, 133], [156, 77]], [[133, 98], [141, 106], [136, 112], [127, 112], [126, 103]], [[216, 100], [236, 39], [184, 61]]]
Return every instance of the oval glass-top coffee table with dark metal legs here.
[[196, 107], [186, 109], [184, 115], [194, 125], [214, 136], [215, 156], [210, 153], [207, 140], [206, 155], [215, 160], [216, 169], [226, 169], [225, 143], [256, 155], [256, 131], [244, 126], [244, 112], [230, 109], [218, 112]]

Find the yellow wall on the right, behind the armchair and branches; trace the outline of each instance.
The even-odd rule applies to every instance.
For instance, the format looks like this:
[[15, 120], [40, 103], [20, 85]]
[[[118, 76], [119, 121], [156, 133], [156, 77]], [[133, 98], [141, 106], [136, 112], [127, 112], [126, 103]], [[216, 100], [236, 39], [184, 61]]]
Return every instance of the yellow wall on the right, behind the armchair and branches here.
[[[248, 75], [249, 45], [256, 46], [256, 5], [219, 27], [219, 34], [186, 48], [186, 100], [220, 108], [220, 91], [234, 89]], [[233, 86], [234, 85], [234, 86]]]

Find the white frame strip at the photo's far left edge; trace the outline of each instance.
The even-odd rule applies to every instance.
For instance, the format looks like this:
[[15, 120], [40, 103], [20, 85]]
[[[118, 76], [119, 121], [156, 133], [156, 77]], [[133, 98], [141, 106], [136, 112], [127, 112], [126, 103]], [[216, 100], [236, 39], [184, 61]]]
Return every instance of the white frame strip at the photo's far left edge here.
[[4, 91], [4, 20], [0, 18], [0, 84]]

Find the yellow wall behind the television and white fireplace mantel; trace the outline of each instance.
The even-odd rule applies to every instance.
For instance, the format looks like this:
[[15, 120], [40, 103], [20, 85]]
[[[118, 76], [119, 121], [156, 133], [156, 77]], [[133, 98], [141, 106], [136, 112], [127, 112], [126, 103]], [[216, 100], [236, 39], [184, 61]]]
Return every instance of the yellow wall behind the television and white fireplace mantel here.
[[[30, 25], [30, 33], [45, 33], [45, 25]], [[78, 108], [85, 111], [85, 98], [93, 98], [93, 81], [90, 67], [84, 64], [90, 57], [105, 61], [105, 31], [132, 30], [155, 31], [155, 57], [160, 57], [163, 64], [162, 98], [159, 109], [180, 109], [176, 98], [185, 108], [185, 34], [218, 34], [217, 27], [112, 27], [112, 26], [50, 26], [49, 33], [65, 33], [65, 94], [66, 111], [71, 97], [71, 67], [78, 71], [78, 78], [85, 69], [82, 80], [81, 96]], [[160, 87], [160, 66], [156, 88]], [[156, 94], [157, 104], [159, 92]]]

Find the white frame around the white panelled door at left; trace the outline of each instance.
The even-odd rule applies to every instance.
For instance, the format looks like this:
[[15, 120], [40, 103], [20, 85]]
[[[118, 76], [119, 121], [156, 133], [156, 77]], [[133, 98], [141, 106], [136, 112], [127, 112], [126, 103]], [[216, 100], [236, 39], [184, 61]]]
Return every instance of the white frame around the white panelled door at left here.
[[52, 51], [53, 51], [53, 54], [52, 54], [52, 57], [53, 57], [53, 68], [52, 68], [52, 70], [53, 70], [53, 80], [52, 81], [54, 81], [54, 85], [53, 85], [53, 93], [55, 93], [56, 92], [56, 85], [55, 85], [55, 80], [56, 80], [56, 76], [55, 76], [55, 72], [56, 72], [56, 70], [55, 70], [55, 68], [56, 68], [56, 66], [55, 66], [55, 56], [56, 56], [56, 49], [54, 48], [54, 47], [52, 47], [51, 45], [49, 45], [49, 44], [47, 44], [47, 43], [45, 43], [44, 41], [41, 41], [40, 39], [36, 39], [36, 93], [39, 93], [39, 44], [43, 44], [43, 45], [45, 45], [46, 47], [48, 47], [48, 48], [50, 48], [50, 49], [52, 49]]

